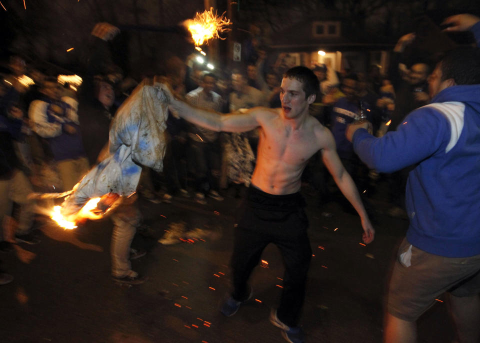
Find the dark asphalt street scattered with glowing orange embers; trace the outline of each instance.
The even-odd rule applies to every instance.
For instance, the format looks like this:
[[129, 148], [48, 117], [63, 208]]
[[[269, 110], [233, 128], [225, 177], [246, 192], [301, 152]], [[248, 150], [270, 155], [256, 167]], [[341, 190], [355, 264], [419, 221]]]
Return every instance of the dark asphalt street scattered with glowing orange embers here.
[[[301, 323], [310, 343], [381, 342], [388, 273], [407, 221], [385, 214], [381, 192], [370, 197], [376, 237], [361, 244], [358, 216], [334, 199], [319, 205], [305, 187], [313, 251]], [[17, 244], [1, 254], [2, 269], [15, 278], [0, 286], [0, 342], [15, 343], [273, 343], [282, 342], [268, 321], [281, 292], [283, 267], [267, 246], [251, 277], [254, 295], [232, 317], [219, 305], [228, 293], [229, 258], [239, 199], [173, 197], [171, 203], [139, 200], [144, 224], [133, 246], [148, 253], [132, 261], [147, 275], [141, 285], [110, 278], [109, 218], [64, 230], [46, 218], [41, 242]], [[165, 230], [201, 228], [202, 239], [162, 245]], [[419, 342], [451, 342], [446, 297], [418, 323]]]

